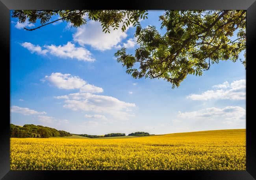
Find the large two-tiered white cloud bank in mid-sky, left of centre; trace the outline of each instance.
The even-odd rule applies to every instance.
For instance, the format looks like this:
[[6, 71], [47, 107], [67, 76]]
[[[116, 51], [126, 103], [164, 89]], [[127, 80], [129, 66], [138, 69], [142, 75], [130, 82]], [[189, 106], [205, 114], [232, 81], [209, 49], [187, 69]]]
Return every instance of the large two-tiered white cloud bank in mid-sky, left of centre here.
[[[78, 76], [70, 74], [52, 73], [50, 76], [45, 76], [53, 86], [62, 89], [79, 89], [80, 92], [72, 93], [63, 96], [54, 96], [56, 99], [65, 99], [63, 107], [69, 108], [74, 111], [85, 111], [100, 114], [111, 115], [111, 120], [127, 120], [129, 117], [134, 116], [131, 114], [132, 108], [136, 107], [134, 103], [126, 103], [111, 96], [100, 96], [92, 93], [103, 92], [103, 89], [96, 87], [86, 82]], [[97, 118], [97, 116], [92, 116]], [[103, 118], [104, 115], [100, 115]], [[89, 115], [87, 115], [89, 117]], [[106, 118], [106, 116], [105, 116]]]

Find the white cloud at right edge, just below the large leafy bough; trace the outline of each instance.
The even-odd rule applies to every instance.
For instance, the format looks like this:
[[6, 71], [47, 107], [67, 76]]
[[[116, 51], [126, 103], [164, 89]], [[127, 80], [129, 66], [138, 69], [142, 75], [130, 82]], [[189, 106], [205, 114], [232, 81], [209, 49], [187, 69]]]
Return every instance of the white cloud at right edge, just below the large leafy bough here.
[[187, 98], [198, 101], [205, 101], [208, 99], [232, 99], [232, 100], [243, 100], [245, 99], [245, 79], [239, 81], [233, 81], [228, 83], [225, 81], [223, 84], [213, 86], [217, 90], [208, 90], [202, 94], [190, 94]]

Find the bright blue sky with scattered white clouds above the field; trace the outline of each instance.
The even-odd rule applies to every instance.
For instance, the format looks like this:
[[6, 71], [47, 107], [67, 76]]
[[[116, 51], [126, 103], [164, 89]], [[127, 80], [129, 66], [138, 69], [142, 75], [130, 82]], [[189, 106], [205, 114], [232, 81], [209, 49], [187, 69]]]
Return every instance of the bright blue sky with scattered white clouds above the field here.
[[[149, 11], [143, 28], [164, 11]], [[11, 12], [10, 12], [11, 13]], [[53, 17], [53, 19], [58, 17]], [[245, 68], [240, 61], [213, 64], [180, 87], [162, 79], [134, 79], [114, 53], [138, 47], [135, 28], [103, 33], [98, 22], [67, 22], [35, 31], [39, 23], [11, 18], [11, 123], [71, 133], [150, 134], [245, 128]], [[240, 55], [243, 59], [243, 54]]]

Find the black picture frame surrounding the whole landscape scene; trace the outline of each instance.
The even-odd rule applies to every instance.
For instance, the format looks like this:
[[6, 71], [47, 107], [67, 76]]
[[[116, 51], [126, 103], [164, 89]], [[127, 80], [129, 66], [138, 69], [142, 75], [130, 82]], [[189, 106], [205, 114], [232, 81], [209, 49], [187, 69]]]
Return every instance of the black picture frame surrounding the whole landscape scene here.
[[[2, 45], [2, 77], [5, 84], [2, 90], [5, 98], [2, 103], [2, 129], [0, 131], [0, 178], [14, 179], [56, 179], [56, 178], [170, 178], [197, 180], [253, 180], [256, 179], [256, 130], [252, 115], [252, 99], [246, 101], [246, 170], [245, 171], [10, 171], [10, 13], [13, 9], [246, 9], [247, 10], [247, 68], [246, 99], [253, 97], [253, 82], [250, 82], [254, 66], [256, 42], [256, 1], [255, 0], [129, 0], [129, 1], [82, 1], [82, 0], [0, 0], [0, 41]], [[6, 57], [6, 58], [4, 58]], [[9, 60], [9, 61], [8, 61]], [[253, 80], [252, 80], [253, 81]], [[9, 96], [7, 96], [9, 94]]]

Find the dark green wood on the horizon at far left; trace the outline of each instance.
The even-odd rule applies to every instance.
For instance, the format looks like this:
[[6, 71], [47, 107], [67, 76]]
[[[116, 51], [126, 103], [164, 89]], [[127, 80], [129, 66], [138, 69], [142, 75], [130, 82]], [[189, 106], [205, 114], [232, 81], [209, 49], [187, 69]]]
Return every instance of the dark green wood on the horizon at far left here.
[[57, 136], [72, 136], [64, 130], [57, 130], [41, 125], [25, 124], [23, 127], [10, 124], [11, 138], [49, 138]]

